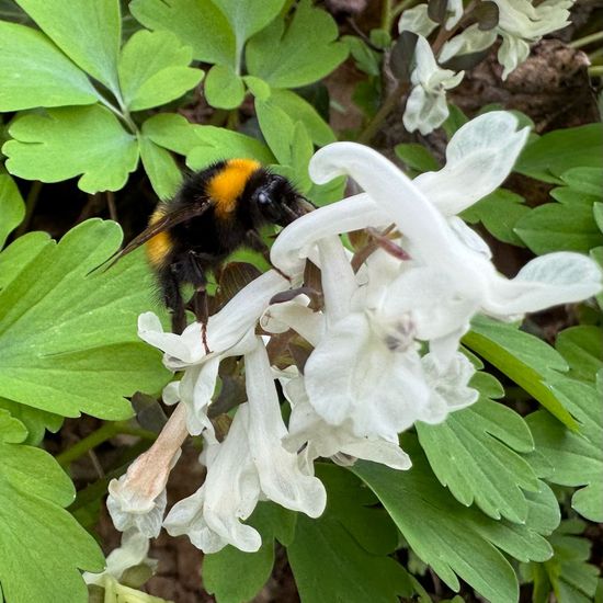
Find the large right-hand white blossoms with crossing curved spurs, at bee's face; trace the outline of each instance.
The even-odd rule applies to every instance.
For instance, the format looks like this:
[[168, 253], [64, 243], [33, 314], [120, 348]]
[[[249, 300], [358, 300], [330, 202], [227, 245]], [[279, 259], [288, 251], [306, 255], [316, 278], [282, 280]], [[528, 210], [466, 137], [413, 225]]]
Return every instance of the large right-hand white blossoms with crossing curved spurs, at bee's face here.
[[[416, 182], [353, 143], [329, 145], [312, 158], [315, 182], [346, 174], [365, 191], [296, 220], [271, 253], [282, 270], [312, 255], [322, 272], [325, 334], [306, 362], [304, 384], [325, 422], [391, 442], [417, 420], [441, 421], [477, 398], [468, 387], [474, 368], [457, 351], [475, 314], [514, 318], [601, 289], [601, 271], [577, 253], [537, 258], [508, 280], [454, 216], [504, 180], [527, 135], [515, 128], [509, 114], [480, 116], [455, 135], [446, 167]], [[390, 223], [411, 260], [380, 250], [354, 274], [333, 235]], [[420, 341], [429, 344], [425, 356]]]

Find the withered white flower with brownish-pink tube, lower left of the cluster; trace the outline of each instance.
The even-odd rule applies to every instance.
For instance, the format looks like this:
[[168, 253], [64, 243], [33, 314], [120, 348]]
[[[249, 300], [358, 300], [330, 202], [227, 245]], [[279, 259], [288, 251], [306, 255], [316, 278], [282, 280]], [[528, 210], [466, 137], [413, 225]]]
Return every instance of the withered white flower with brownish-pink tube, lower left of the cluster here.
[[136, 530], [147, 538], [159, 535], [166, 511], [166, 483], [186, 437], [185, 408], [179, 406], [152, 446], [120, 479], [109, 483], [106, 508], [121, 532]]

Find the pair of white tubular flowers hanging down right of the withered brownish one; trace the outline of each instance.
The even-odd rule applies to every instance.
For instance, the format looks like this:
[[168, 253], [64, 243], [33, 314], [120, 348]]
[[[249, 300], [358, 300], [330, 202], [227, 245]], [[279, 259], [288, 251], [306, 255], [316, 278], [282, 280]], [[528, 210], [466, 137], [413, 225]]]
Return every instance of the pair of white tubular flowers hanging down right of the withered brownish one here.
[[249, 401], [238, 408], [224, 443], [212, 445], [204, 485], [164, 521], [170, 534], [187, 534], [205, 553], [227, 544], [247, 551], [260, 548], [258, 532], [241, 523], [260, 496], [311, 517], [326, 505], [322, 483], [302, 471], [296, 452], [283, 447], [287, 431], [261, 339], [244, 359]]

